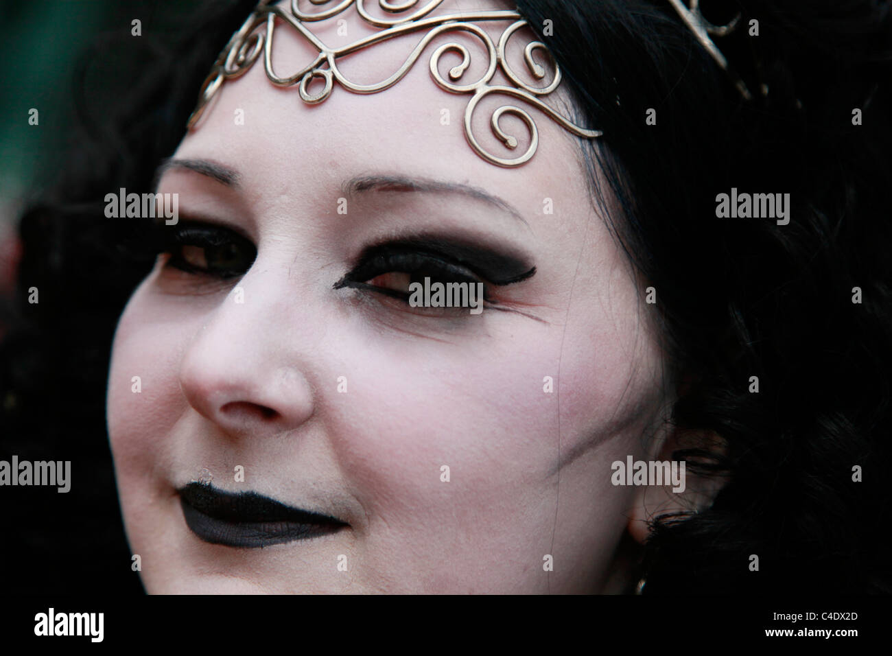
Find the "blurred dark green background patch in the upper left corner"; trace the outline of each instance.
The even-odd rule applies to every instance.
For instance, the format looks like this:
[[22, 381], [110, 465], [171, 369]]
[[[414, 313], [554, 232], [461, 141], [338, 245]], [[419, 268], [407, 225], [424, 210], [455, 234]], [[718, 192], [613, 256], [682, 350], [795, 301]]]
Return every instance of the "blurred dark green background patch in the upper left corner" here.
[[[0, 0], [0, 294], [10, 290], [20, 212], [53, 184], [77, 131], [78, 65], [88, 64], [93, 75], [138, 66], [137, 58], [151, 52], [147, 46], [161, 43], [199, 2]], [[125, 46], [137, 38], [135, 19], [140, 48]], [[31, 108], [39, 112], [37, 125], [29, 124]]]

